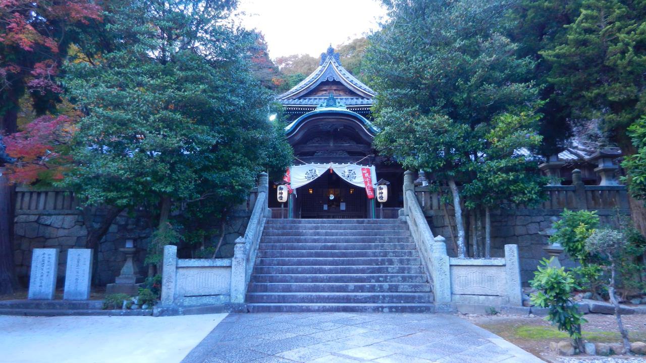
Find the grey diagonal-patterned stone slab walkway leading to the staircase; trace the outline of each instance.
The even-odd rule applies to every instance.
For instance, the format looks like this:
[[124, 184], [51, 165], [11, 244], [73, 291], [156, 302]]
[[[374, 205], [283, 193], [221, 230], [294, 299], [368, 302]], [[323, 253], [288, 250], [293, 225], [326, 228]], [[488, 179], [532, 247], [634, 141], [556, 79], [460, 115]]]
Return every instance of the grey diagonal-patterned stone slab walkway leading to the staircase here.
[[224, 318], [182, 363], [534, 363], [453, 315], [257, 313]]

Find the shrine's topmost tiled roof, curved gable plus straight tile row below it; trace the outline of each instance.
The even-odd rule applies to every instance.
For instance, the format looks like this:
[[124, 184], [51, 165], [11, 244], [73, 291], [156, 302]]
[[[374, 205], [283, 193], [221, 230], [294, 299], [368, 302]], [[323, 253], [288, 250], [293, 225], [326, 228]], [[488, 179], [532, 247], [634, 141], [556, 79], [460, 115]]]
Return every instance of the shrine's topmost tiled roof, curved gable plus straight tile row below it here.
[[[352, 76], [346, 68], [341, 66], [339, 53], [335, 53], [331, 46], [328, 48], [327, 52], [321, 54], [321, 62], [318, 68], [302, 82], [298, 83], [294, 88], [291, 88], [291, 90], [278, 96], [278, 101], [283, 105], [318, 105], [325, 98], [302, 98], [302, 96], [324, 81], [337, 81], [342, 83], [342, 85], [347, 87], [354, 94], [357, 94], [356, 97], [346, 97], [351, 103], [343, 102], [343, 97], [338, 98], [344, 105], [372, 104], [372, 98], [375, 96], [375, 91], [364, 85], [364, 83], [359, 81], [359, 79]], [[300, 101], [300, 99], [307, 99], [307, 101]], [[316, 101], [314, 99], [316, 99]], [[359, 99], [361, 101], [359, 101]]]

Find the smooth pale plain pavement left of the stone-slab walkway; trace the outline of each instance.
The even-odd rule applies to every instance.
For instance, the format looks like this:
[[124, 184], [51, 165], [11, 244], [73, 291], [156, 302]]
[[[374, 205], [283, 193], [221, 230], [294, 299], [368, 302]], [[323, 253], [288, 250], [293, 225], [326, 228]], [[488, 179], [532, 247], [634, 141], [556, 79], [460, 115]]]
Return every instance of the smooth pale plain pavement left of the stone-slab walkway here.
[[178, 363], [225, 316], [0, 316], [0, 363]]

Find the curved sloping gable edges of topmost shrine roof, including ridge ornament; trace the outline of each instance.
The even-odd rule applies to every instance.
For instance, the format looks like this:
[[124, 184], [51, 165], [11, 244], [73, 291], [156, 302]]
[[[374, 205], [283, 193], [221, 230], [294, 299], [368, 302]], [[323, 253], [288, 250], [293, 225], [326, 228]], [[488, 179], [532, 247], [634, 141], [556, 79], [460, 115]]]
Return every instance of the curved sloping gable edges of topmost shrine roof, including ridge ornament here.
[[330, 46], [326, 53], [321, 54], [318, 68], [291, 90], [278, 96], [278, 101], [300, 98], [324, 81], [339, 81], [361, 98], [372, 99], [375, 96], [375, 91], [364, 85], [359, 79], [352, 76], [346, 68], [341, 66], [339, 53], [335, 53]]

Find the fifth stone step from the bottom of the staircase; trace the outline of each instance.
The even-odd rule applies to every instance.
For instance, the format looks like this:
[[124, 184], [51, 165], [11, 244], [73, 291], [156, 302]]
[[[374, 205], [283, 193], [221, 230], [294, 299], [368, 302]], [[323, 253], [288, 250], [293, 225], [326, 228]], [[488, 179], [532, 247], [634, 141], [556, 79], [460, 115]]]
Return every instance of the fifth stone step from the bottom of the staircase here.
[[374, 275], [374, 274], [423, 274], [421, 265], [413, 266], [256, 266], [253, 273], [260, 275]]

